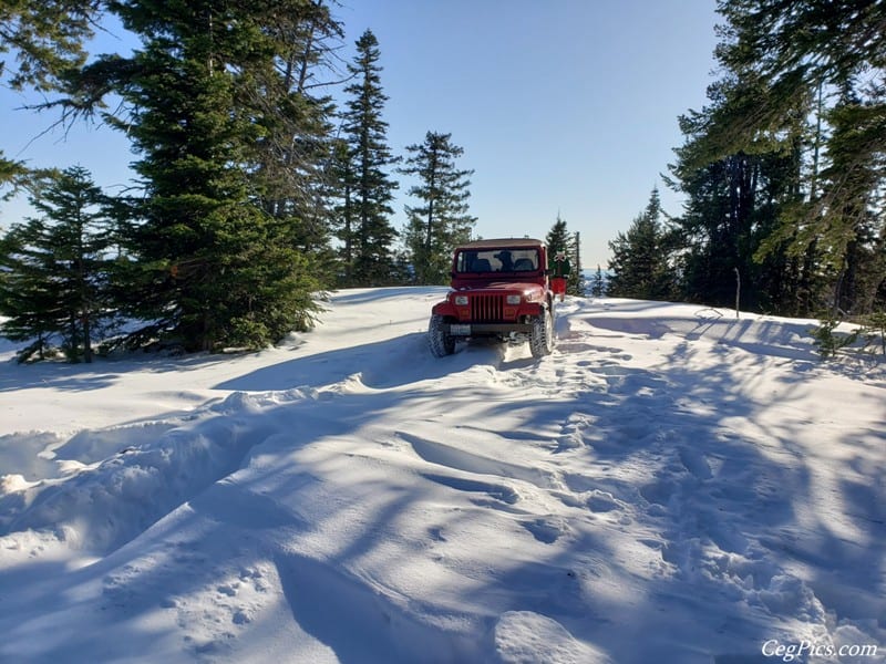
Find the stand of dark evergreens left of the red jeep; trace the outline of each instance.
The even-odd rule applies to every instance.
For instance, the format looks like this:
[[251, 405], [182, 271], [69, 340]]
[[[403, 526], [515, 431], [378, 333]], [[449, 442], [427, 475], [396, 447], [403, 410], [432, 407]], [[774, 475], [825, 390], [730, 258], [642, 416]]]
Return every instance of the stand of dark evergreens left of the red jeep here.
[[[8, 84], [45, 93], [34, 111], [60, 123], [97, 120], [125, 132], [138, 177], [128, 195], [107, 197], [80, 167], [29, 178], [0, 154], [0, 183], [29, 187], [42, 215], [2, 238], [1, 332], [37, 339], [34, 352], [54, 335], [85, 360], [92, 339], [123, 319], [143, 323], [121, 336], [133, 346], [261, 347], [309, 328], [323, 289], [439, 282], [441, 253], [474, 222], [470, 172], [454, 166], [462, 149], [429, 133], [434, 165], [420, 152], [408, 162], [403, 172], [421, 183], [410, 194], [427, 210], [408, 208], [398, 255], [400, 159], [387, 141], [379, 44], [365, 31], [339, 73], [343, 29], [331, 4], [0, 2]], [[140, 45], [87, 59], [106, 14]], [[76, 199], [80, 212], [101, 224], [72, 226], [53, 197], [75, 190], [86, 197]], [[63, 247], [76, 237], [87, 247], [80, 259]], [[54, 289], [50, 305], [45, 291], [74, 264], [90, 274], [81, 290], [94, 292], [61, 303]]]

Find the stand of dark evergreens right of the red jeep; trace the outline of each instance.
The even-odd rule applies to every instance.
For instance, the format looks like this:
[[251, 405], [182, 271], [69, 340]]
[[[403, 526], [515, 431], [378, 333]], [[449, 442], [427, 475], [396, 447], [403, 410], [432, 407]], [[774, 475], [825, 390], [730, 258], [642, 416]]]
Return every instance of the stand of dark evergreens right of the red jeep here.
[[651, 274], [658, 298], [727, 305], [740, 279], [751, 310], [882, 311], [886, 4], [721, 0], [718, 11], [720, 77], [708, 105], [680, 117], [667, 178], [686, 208], [658, 222], [647, 209], [617, 238], [610, 292]]

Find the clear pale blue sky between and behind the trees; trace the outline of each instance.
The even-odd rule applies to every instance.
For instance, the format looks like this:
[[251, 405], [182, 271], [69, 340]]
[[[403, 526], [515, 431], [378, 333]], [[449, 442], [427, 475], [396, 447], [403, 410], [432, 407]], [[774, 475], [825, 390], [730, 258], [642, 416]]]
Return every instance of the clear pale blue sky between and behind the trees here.
[[[559, 214], [581, 232], [583, 263], [606, 267], [682, 143], [678, 115], [712, 82], [714, 0], [342, 0], [341, 56], [367, 29], [379, 40], [384, 118], [394, 154], [429, 131], [452, 134], [473, 168], [471, 214], [483, 237], [544, 237]], [[104, 38], [103, 50], [114, 49]], [[89, 168], [127, 184], [125, 138], [102, 127], [40, 135], [54, 120], [16, 111], [0, 89], [0, 147], [32, 166]], [[13, 131], [9, 128], [12, 127]], [[394, 225], [405, 222], [401, 179]], [[413, 201], [414, 203], [414, 201]], [[21, 201], [0, 207], [16, 221]]]

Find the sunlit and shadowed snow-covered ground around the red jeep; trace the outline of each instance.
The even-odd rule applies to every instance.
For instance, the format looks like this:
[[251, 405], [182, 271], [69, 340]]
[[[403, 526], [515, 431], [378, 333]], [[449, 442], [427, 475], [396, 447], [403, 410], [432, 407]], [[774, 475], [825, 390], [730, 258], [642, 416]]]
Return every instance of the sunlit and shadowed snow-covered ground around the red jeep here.
[[0, 364], [0, 661], [886, 658], [882, 362], [608, 299], [544, 360], [435, 360], [444, 290], [253, 355]]

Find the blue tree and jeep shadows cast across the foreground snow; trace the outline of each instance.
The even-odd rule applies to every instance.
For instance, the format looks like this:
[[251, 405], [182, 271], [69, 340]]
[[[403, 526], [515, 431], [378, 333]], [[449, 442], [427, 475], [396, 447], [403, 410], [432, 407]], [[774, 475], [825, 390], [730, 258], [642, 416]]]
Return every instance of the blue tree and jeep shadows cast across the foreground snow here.
[[[595, 326], [616, 330], [616, 323], [607, 326], [602, 317], [588, 320]], [[624, 321], [621, 325], [617, 329], [621, 333], [641, 333], [650, 339], [669, 331], [653, 329], [650, 334], [648, 326], [631, 332]], [[741, 330], [742, 325], [731, 328], [723, 343], [740, 346]], [[705, 336], [710, 333], [711, 330], [699, 330]], [[265, 444], [269, 449], [297, 452], [318, 439], [347, 436], [372, 422], [383, 422], [393, 411], [408, 413], [419, 403], [433, 398], [443, 402], [450, 396], [442, 387], [388, 390], [454, 376], [477, 362], [494, 365], [504, 377], [532, 383], [542, 377], [546, 363], [557, 362], [555, 353], [540, 362], [505, 363], [499, 351], [482, 346], [467, 347], [441, 361], [430, 357], [425, 343], [424, 334], [409, 334], [286, 361], [216, 385], [218, 390], [286, 391], [322, 387], [359, 374], [370, 387], [369, 392], [338, 394], [329, 401], [306, 400], [266, 407], [260, 417], [275, 424], [254, 423], [256, 432], [240, 467], [246, 468], [265, 449]], [[192, 539], [175, 536], [173, 541], [181, 523], [176, 526], [175, 519], [164, 519], [172, 511], [167, 506], [145, 523], [142, 537], [131, 533], [135, 541], [107, 551], [100, 562], [70, 574], [61, 580], [62, 584], [48, 585], [48, 595], [64, 590], [62, 585], [104, 579], [106, 601], [123, 602], [126, 606], [125, 620], [120, 619], [114, 625], [115, 639], [126, 643], [127, 634], [133, 632], [130, 635], [134, 641], [145, 641], [163, 636], [163, 627], [154, 626], [154, 632], [146, 635], [147, 623], [136, 627], [138, 621], [130, 619], [155, 610], [156, 588], [178, 584], [164, 592], [171, 598], [187, 598], [217, 587], [219, 573], [230, 571], [227, 567], [260, 569], [265, 578], [276, 574], [279, 579], [299, 626], [346, 664], [372, 661], [377, 655], [380, 661], [405, 662], [426, 653], [424, 649], [430, 649], [442, 662], [490, 658], [491, 631], [496, 618], [507, 611], [534, 611], [552, 618], [576, 639], [594, 643], [619, 663], [710, 662], [711, 658], [721, 663], [758, 662], [764, 641], [785, 634], [790, 637], [784, 632], [787, 621], [803, 615], [817, 620], [808, 615], [814, 603], [804, 593], [802, 583], [793, 583], [789, 566], [805, 566], [810, 570], [802, 581], [828, 610], [836, 612], [837, 620], [882, 615], [883, 593], [869, 589], [872, 584], [882, 584], [878, 580], [886, 571], [886, 511], [877, 507], [882, 506], [878, 498], [884, 492], [883, 468], [865, 469], [867, 481], [847, 479], [838, 487], [836, 499], [844, 500], [848, 506], [846, 511], [853, 512], [858, 541], [846, 541], [824, 519], [801, 530], [797, 511], [811, 499], [812, 478], [802, 449], [792, 442], [799, 427], [805, 426], [803, 422], [783, 421], [769, 427], [758, 424], [739, 430], [734, 423], [754, 423], [767, 404], [750, 398], [750, 388], [736, 382], [729, 363], [712, 365], [701, 373], [690, 370], [693, 355], [702, 352], [691, 343], [678, 346], [663, 369], [657, 370], [607, 365], [599, 361], [605, 350], [593, 344], [581, 346], [573, 342], [573, 345], [576, 352], [588, 354], [581, 366], [597, 388], [556, 398], [532, 392], [517, 403], [491, 398], [483, 412], [491, 422], [507, 416], [517, 421], [515, 430], [537, 432], [535, 438], [532, 434], [521, 434], [526, 445], [544, 443], [543, 432], [562, 432], [560, 444], [550, 446], [543, 460], [552, 468], [569, 470], [562, 475], [564, 489], [550, 495], [568, 494], [580, 513], [574, 512], [576, 521], [565, 535], [536, 525], [535, 539], [556, 546], [550, 546], [547, 554], [540, 553], [507, 569], [496, 568], [497, 542], [473, 542], [477, 548], [488, 549], [491, 571], [476, 580], [471, 590], [452, 589], [447, 606], [430, 605], [433, 598], [411, 596], [404, 598], [405, 605], [412, 609], [406, 612], [403, 603], [392, 600], [393, 590], [388, 595], [379, 593], [357, 570], [359, 559], [389, 556], [384, 533], [400, 533], [405, 510], [425, 499], [421, 488], [412, 494], [390, 491], [387, 506], [360, 525], [360, 532], [354, 533], [353, 541], [338, 556], [318, 560], [299, 551], [297, 542], [312, 528], [299, 513], [299, 497], [302, 491], [310, 496], [309, 491], [321, 481], [319, 466], [307, 465], [299, 471], [286, 469], [290, 483], [286, 495], [291, 500], [286, 505], [262, 499], [258, 492], [249, 491], [248, 486], [236, 489], [222, 486], [236, 479], [236, 475], [230, 475], [231, 469], [225, 468], [217, 478], [220, 483], [208, 488], [195, 486], [182, 495], [183, 501], [188, 501], [188, 510], [177, 518], [185, 521], [205, 518], [210, 525], [208, 531], [204, 523]], [[755, 336], [751, 350], [797, 362], [801, 371], [807, 360], [805, 352], [793, 354], [784, 347], [777, 339], [764, 347]], [[395, 370], [388, 371], [389, 366]], [[800, 377], [784, 385], [781, 396], [784, 403], [790, 403], [792, 391], [800, 385]], [[457, 421], [457, 400], [446, 402], [446, 408], [453, 421]], [[487, 426], [476, 418], [470, 424], [481, 430]], [[490, 433], [497, 434], [491, 429]], [[847, 436], [841, 444], [854, 442]], [[883, 433], [870, 432], [867, 444], [882, 445]], [[364, 445], [374, 446], [378, 442], [365, 440]], [[568, 464], [564, 465], [567, 456]], [[453, 491], [477, 492], [483, 483], [507, 486], [515, 479], [534, 481], [526, 473], [519, 478], [505, 474], [492, 484], [488, 474], [480, 473], [476, 479], [455, 481], [449, 471], [464, 474], [472, 468], [447, 467], [445, 455], [426, 445], [421, 460], [426, 464], [421, 477], [426, 480], [427, 491], [444, 485]], [[284, 470], [269, 474], [282, 477]], [[540, 479], [537, 488], [550, 491]], [[218, 496], [214, 491], [244, 491], [241, 510], [215, 509], [214, 497]], [[226, 500], [234, 502], [229, 495]], [[488, 504], [475, 505], [493, 506], [503, 519], [526, 517], [526, 512], [516, 511], [518, 498], [497, 502], [502, 506], [495, 505], [495, 496], [491, 495]], [[341, 509], [347, 507], [343, 505]], [[330, 510], [328, 517], [332, 519], [334, 508]], [[441, 513], [436, 535], [429, 531], [425, 546], [430, 548], [442, 530], [455, 529], [460, 520], [470, 518], [471, 515], [459, 510]], [[225, 533], [230, 529], [244, 536], [227, 537]], [[258, 532], [264, 533], [260, 539]], [[245, 539], [250, 533], [255, 537]], [[607, 533], [612, 537], [606, 537]], [[235, 544], [235, 540], [240, 543]], [[254, 543], [243, 543], [250, 541]], [[642, 542], [651, 551], [656, 570], [648, 578], [638, 575], [632, 561], [626, 559], [627, 552], [619, 550], [619, 541]], [[214, 560], [208, 567], [200, 562], [209, 551], [226, 546], [231, 549], [226, 559]], [[138, 564], [144, 556], [158, 551], [177, 553], [185, 560], [187, 556], [194, 557], [193, 573], [185, 577], [173, 568]], [[410, 562], [390, 558], [389, 572], [393, 575]], [[861, 571], [849, 578], [833, 571], [849, 568]], [[128, 575], [120, 575], [121, 569], [128, 570]], [[619, 592], [598, 592], [607, 583]], [[878, 588], [883, 590], [882, 585]], [[855, 601], [856, 596], [862, 601]], [[451, 624], [472, 625], [472, 631], [447, 631], [440, 624], [423, 622], [425, 604], [431, 614], [445, 614]], [[485, 613], [465, 615], [454, 609], [459, 605], [481, 606]], [[186, 604], [179, 602], [179, 613], [185, 609]], [[773, 624], [773, 618], [777, 624]], [[628, 642], [626, 630], [636, 634], [636, 640], [630, 641], [633, 650], [618, 652], [617, 646]], [[75, 645], [65, 643], [51, 651], [63, 657], [76, 652]], [[213, 646], [208, 640], [188, 647], [197, 654], [227, 652], [224, 650], [227, 646]], [[214, 653], [212, 647], [222, 651]]]

